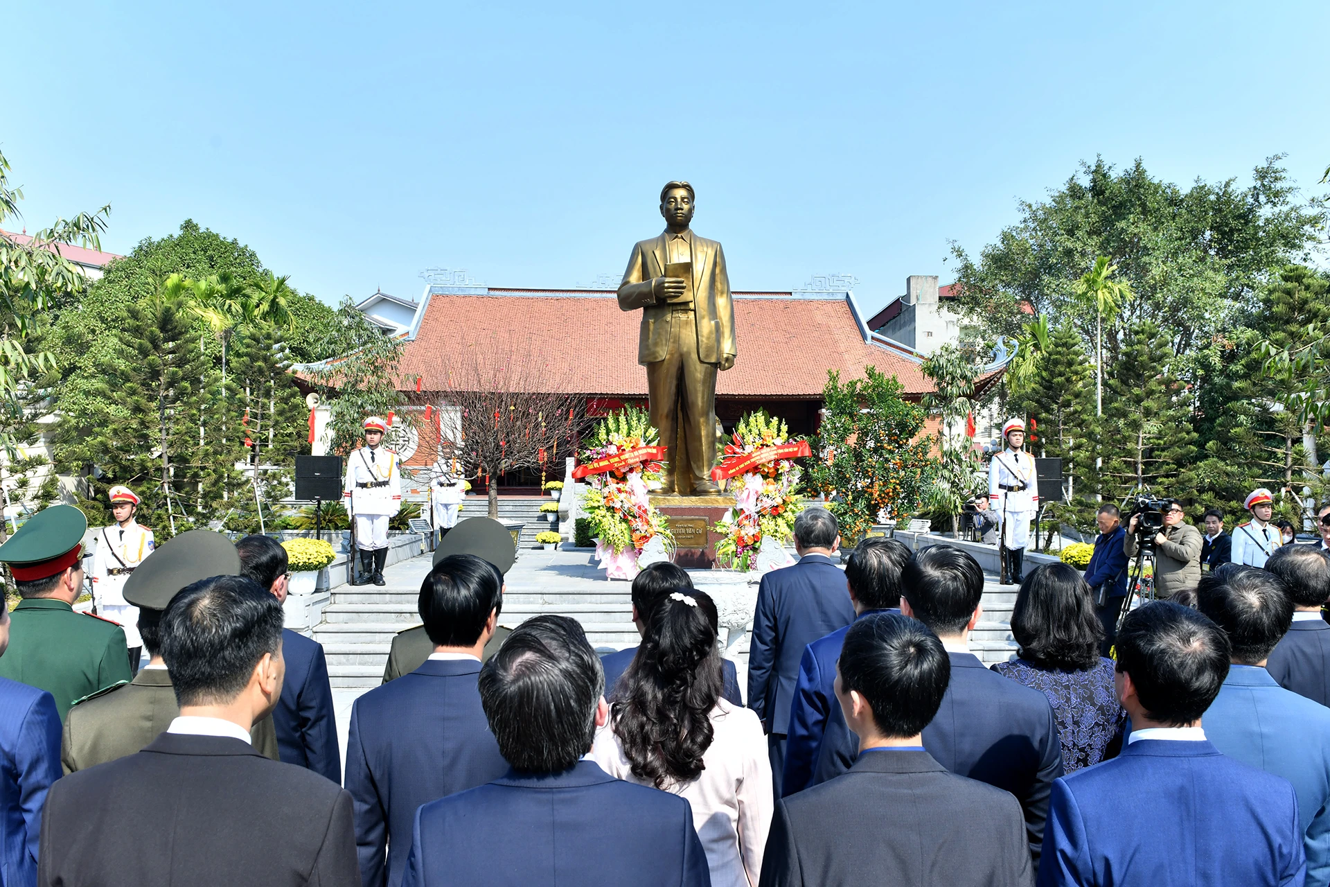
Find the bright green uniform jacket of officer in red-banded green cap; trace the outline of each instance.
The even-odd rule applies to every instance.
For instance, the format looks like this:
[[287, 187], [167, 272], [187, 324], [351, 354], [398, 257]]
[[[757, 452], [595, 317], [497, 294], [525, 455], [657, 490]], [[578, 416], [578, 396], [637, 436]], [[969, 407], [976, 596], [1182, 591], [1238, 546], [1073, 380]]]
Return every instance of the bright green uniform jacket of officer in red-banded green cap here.
[[61, 721], [77, 699], [129, 681], [125, 632], [114, 622], [52, 597], [25, 598], [9, 618], [0, 677], [51, 693]]

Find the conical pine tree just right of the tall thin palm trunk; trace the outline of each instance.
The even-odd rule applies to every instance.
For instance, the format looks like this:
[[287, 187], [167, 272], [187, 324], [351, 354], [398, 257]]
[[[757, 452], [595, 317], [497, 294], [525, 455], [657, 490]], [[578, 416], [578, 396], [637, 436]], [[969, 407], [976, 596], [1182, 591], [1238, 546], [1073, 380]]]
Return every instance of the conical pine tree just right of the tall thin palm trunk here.
[[1101, 491], [1111, 501], [1149, 492], [1196, 500], [1192, 398], [1172, 370], [1168, 339], [1149, 320], [1133, 324], [1108, 376]]

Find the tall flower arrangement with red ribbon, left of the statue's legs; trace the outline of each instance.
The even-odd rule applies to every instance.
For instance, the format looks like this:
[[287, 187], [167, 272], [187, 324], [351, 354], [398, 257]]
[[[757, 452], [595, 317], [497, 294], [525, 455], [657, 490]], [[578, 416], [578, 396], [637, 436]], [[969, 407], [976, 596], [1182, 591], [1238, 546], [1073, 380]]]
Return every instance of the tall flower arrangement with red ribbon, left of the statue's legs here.
[[587, 479], [581, 509], [596, 540], [596, 557], [606, 578], [633, 580], [638, 557], [652, 540], [673, 552], [669, 525], [650, 501], [660, 487], [665, 447], [645, 410], [625, 407], [596, 427], [591, 445], [579, 453], [573, 479]]

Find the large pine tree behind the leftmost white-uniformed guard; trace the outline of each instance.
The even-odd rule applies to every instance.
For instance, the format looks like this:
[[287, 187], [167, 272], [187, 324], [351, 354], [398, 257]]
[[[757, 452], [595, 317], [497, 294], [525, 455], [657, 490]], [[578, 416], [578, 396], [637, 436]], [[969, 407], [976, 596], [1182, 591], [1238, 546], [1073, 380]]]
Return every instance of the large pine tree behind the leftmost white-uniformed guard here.
[[[96, 396], [57, 432], [60, 463], [88, 469], [97, 503], [114, 484], [130, 487], [141, 523], [158, 533], [206, 523], [230, 473], [217, 436], [201, 431], [218, 415], [214, 378], [180, 302], [154, 295], [126, 306]], [[96, 508], [90, 517], [104, 520]]]

